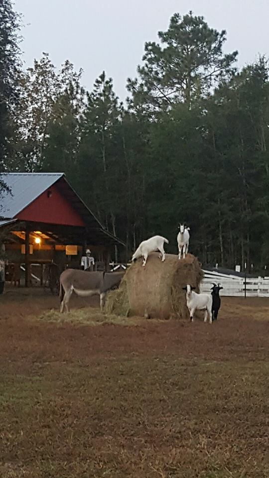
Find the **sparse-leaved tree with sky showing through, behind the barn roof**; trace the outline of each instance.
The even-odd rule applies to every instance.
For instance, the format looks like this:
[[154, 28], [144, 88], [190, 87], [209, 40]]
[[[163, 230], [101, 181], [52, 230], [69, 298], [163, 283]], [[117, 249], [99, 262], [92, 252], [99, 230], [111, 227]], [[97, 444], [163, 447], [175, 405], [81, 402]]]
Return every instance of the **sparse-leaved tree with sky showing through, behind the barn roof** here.
[[69, 61], [57, 71], [48, 53], [43, 53], [39, 61], [34, 60], [32, 68], [21, 72], [20, 101], [13, 138], [14, 154], [9, 159], [9, 169], [38, 171], [43, 168], [49, 127], [57, 106], [59, 113], [59, 102], [62, 106], [64, 103], [62, 97], [66, 95], [65, 99], [68, 100], [68, 95], [76, 95], [72, 89], [79, 88], [77, 85], [81, 73], [75, 72]]

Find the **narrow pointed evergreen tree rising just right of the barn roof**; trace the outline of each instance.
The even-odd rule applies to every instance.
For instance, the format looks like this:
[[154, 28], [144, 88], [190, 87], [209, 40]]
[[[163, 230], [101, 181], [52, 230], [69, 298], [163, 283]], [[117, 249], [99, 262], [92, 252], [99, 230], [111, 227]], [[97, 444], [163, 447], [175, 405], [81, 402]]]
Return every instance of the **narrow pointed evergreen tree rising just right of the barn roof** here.
[[112, 79], [103, 72], [87, 96], [83, 114], [81, 175], [87, 199], [91, 199], [98, 217], [113, 232], [116, 231], [115, 208], [119, 196], [116, 183], [121, 172], [115, 144], [119, 118], [120, 104], [113, 91]]

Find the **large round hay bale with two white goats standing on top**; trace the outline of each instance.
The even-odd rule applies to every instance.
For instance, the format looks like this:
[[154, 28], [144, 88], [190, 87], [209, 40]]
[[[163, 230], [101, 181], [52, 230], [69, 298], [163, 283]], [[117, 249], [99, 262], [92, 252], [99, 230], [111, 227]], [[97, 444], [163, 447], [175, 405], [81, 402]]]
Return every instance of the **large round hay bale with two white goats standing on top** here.
[[141, 258], [130, 266], [119, 289], [109, 294], [107, 312], [158, 319], [189, 318], [182, 287], [191, 284], [199, 291], [203, 272], [198, 259], [187, 254], [185, 260], [178, 260], [177, 255], [166, 254], [161, 262], [158, 256], [158, 252], [150, 254], [145, 267]]

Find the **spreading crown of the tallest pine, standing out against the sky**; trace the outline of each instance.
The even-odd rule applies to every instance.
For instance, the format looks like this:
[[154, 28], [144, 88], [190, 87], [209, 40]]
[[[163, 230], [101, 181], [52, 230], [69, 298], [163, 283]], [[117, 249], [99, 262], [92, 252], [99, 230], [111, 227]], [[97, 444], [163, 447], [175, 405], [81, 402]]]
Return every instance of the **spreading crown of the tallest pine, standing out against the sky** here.
[[182, 18], [175, 13], [168, 30], [159, 31], [158, 36], [163, 46], [147, 42], [144, 64], [137, 68], [139, 80], [128, 80], [134, 105], [142, 101], [158, 111], [183, 101], [190, 108], [234, 73], [237, 51], [223, 54], [226, 31], [209, 28], [202, 16], [189, 12]]

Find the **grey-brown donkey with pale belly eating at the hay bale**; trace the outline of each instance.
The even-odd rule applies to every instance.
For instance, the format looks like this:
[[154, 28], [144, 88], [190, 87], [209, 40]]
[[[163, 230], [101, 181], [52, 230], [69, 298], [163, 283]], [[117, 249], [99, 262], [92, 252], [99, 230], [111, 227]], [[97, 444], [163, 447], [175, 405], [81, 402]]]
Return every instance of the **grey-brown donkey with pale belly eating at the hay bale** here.
[[78, 269], [66, 269], [60, 275], [60, 312], [64, 308], [69, 312], [68, 303], [72, 292], [86, 297], [100, 295], [100, 309], [103, 310], [106, 293], [117, 289], [125, 274], [124, 272], [87, 272]]

